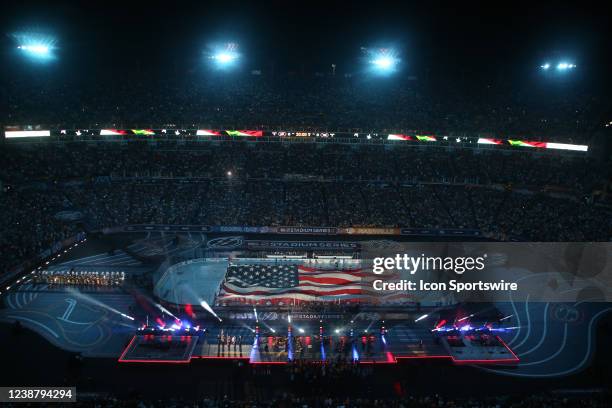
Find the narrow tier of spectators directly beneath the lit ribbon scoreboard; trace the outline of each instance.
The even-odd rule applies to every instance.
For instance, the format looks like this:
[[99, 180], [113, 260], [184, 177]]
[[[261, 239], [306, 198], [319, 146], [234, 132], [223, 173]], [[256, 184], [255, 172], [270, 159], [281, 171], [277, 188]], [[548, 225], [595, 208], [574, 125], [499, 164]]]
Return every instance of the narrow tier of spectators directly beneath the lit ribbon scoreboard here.
[[529, 155], [402, 146], [175, 142], [0, 149], [4, 183], [85, 177], [238, 178], [368, 182], [445, 182], [551, 186], [591, 192], [610, 177], [607, 162], [584, 156]]

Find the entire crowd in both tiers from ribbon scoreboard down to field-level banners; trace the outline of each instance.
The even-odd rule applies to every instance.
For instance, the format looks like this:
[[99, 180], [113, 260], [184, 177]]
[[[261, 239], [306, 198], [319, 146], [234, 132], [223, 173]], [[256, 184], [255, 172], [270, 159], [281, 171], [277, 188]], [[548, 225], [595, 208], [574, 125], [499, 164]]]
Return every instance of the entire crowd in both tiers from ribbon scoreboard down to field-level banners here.
[[73, 143], [4, 146], [0, 161], [3, 270], [83, 229], [126, 224], [456, 228], [541, 241], [612, 235], [610, 169], [585, 156]]

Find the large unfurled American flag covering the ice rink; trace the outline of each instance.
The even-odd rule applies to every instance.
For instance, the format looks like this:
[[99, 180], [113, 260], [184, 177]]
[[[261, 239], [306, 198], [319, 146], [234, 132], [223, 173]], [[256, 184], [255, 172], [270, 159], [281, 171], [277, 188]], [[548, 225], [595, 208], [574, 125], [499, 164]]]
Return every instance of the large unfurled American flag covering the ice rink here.
[[372, 302], [382, 300], [361, 269], [295, 264], [230, 265], [218, 302]]

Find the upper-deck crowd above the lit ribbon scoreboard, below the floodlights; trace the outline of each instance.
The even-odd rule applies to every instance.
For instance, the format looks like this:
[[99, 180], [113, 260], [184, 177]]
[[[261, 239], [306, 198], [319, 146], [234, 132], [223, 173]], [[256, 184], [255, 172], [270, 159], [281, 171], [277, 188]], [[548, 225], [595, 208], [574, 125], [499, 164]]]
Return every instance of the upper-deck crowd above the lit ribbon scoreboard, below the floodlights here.
[[[326, 75], [218, 76], [79, 83], [27, 78], [5, 85], [6, 123], [82, 128], [173, 124], [228, 128], [494, 132], [588, 140], [609, 121], [587, 89], [520, 89], [457, 81]], [[158, 123], [158, 124], [161, 124]]]

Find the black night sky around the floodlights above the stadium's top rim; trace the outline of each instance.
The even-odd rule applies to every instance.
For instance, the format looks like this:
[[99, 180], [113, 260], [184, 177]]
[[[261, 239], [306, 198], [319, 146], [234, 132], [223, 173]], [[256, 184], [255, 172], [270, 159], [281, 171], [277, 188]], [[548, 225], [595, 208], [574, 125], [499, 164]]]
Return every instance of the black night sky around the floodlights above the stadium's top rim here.
[[85, 78], [202, 69], [207, 47], [227, 41], [242, 69], [264, 72], [356, 72], [362, 46], [396, 48], [401, 74], [418, 77], [520, 78], [548, 58], [574, 60], [594, 82], [610, 71], [601, 2], [419, 3], [4, 1], [2, 69], [22, 64], [12, 34], [38, 31], [57, 38], [52, 69]]

